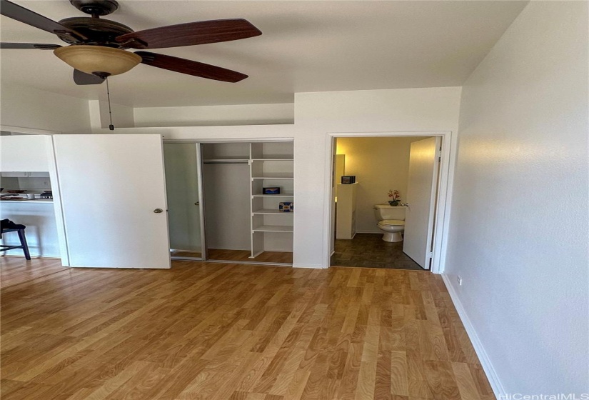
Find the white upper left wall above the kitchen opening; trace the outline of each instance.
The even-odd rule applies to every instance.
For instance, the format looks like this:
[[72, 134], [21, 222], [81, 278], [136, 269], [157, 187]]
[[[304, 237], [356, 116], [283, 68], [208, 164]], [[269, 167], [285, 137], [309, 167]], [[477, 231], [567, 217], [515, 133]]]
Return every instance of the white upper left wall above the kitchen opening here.
[[90, 133], [88, 101], [27, 86], [2, 82], [0, 120], [4, 126]]

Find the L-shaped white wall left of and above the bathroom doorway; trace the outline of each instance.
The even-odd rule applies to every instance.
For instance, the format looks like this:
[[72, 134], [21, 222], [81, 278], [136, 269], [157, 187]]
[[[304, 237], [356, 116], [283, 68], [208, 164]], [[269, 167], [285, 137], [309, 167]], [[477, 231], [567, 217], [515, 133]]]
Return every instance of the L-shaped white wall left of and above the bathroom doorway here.
[[295, 94], [294, 264], [327, 267], [328, 134], [458, 130], [460, 87]]

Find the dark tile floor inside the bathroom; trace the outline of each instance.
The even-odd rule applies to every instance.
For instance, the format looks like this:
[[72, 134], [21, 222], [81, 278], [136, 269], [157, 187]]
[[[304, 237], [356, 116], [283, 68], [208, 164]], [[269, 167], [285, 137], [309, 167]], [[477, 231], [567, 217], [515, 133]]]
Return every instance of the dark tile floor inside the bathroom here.
[[403, 242], [383, 241], [382, 234], [356, 234], [354, 239], [336, 239], [331, 266], [365, 268], [413, 269], [423, 268], [403, 253]]

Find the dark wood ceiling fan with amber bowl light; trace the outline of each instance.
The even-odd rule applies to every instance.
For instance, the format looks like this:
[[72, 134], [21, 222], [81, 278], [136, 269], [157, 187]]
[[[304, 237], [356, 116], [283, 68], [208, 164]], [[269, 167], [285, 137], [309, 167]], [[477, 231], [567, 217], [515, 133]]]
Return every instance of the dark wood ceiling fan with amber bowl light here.
[[52, 21], [8, 0], [0, 0], [0, 14], [24, 24], [56, 34], [69, 46], [58, 44], [1, 43], [0, 49], [53, 50], [54, 54], [74, 67], [74, 82], [79, 85], [101, 84], [106, 77], [123, 74], [137, 64], [180, 72], [217, 81], [238, 82], [246, 74], [198, 61], [180, 59], [149, 51], [126, 49], [163, 49], [246, 39], [262, 32], [245, 19], [218, 19], [187, 24], [161, 26], [133, 31], [124, 24], [101, 19], [116, 11], [115, 0], [69, 0], [88, 16]]

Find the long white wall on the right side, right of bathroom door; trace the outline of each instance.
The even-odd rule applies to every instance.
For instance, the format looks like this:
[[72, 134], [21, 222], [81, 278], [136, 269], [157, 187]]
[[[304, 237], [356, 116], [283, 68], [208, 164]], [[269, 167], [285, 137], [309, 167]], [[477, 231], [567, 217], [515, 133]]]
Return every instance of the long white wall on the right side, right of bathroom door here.
[[463, 87], [445, 274], [496, 394], [589, 389], [587, 18], [530, 2]]

